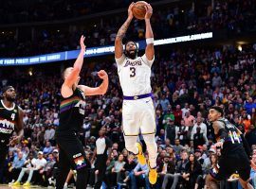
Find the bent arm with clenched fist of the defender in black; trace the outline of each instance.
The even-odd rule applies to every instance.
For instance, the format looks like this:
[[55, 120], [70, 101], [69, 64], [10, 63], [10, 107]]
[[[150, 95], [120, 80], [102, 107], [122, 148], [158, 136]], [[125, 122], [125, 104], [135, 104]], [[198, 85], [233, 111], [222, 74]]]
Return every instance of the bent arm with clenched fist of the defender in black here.
[[98, 76], [103, 80], [99, 87], [87, 87], [85, 85], [79, 85], [78, 87], [82, 89], [85, 95], [98, 95], [105, 94], [108, 88], [108, 76], [104, 70], [98, 72]]

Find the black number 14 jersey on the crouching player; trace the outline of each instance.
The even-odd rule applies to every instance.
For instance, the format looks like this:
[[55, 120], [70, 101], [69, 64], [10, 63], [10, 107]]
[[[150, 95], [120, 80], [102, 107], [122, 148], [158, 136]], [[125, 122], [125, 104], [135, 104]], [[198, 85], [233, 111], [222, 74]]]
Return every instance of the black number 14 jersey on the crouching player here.
[[[221, 150], [221, 154], [223, 156], [232, 155], [234, 153], [239, 153], [241, 150], [245, 150], [243, 146], [243, 141], [240, 136], [240, 132], [232, 125], [227, 119], [218, 119], [217, 121], [224, 123], [225, 131], [228, 133], [226, 138], [224, 139], [225, 142], [223, 144], [223, 148]], [[217, 134], [217, 138], [220, 137], [221, 131]]]

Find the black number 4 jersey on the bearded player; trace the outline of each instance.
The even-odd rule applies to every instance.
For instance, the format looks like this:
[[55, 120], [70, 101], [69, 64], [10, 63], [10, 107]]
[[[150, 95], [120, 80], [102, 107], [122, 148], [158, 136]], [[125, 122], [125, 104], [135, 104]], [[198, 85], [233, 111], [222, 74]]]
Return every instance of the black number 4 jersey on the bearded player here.
[[19, 118], [19, 107], [13, 103], [12, 108], [4, 105], [3, 100], [0, 102], [0, 140], [9, 142], [9, 138], [15, 129]]

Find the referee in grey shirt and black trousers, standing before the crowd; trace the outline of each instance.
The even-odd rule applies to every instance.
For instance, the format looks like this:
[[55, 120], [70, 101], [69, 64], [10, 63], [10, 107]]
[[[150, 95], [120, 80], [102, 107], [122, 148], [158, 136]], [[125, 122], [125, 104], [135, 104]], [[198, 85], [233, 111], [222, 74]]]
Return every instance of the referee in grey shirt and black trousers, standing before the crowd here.
[[101, 128], [99, 131], [99, 139], [96, 141], [92, 162], [96, 156], [95, 172], [98, 172], [98, 179], [95, 183], [95, 189], [100, 189], [102, 181], [105, 180], [106, 167], [109, 165], [112, 153], [112, 141], [105, 136], [106, 129]]

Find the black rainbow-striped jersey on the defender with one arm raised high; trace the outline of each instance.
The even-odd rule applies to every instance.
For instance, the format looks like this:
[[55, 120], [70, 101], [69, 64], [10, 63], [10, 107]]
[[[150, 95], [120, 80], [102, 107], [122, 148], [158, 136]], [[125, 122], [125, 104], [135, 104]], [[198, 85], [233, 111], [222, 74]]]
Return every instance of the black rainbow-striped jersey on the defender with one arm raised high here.
[[56, 134], [69, 134], [82, 129], [85, 112], [85, 95], [81, 89], [77, 88], [73, 94], [67, 98], [61, 97], [60, 125], [56, 129]]

